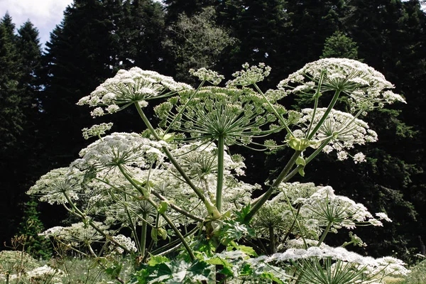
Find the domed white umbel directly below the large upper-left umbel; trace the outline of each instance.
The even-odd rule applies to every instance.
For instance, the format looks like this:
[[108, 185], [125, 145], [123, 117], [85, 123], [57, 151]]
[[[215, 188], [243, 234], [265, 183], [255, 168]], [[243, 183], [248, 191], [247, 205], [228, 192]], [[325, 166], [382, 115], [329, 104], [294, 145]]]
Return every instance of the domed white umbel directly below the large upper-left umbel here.
[[72, 166], [97, 170], [118, 165], [147, 168], [151, 163], [165, 157], [160, 148], [160, 143], [143, 138], [137, 133], [112, 133], [80, 151], [82, 158], [75, 160]]

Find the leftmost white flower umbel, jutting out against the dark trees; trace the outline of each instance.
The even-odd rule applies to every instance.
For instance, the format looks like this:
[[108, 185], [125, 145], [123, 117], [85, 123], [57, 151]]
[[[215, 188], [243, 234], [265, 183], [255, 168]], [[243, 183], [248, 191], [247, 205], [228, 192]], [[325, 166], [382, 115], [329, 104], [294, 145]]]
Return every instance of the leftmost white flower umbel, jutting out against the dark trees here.
[[65, 204], [79, 200], [82, 195], [83, 173], [77, 169], [58, 168], [43, 175], [30, 187], [28, 195], [40, 196], [40, 200], [50, 204]]

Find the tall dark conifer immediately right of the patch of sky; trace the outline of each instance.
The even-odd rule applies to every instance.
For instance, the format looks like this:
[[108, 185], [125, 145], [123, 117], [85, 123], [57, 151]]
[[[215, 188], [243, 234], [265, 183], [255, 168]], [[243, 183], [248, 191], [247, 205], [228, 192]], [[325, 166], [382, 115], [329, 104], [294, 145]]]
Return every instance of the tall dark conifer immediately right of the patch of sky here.
[[53, 159], [47, 162], [50, 167], [77, 158], [84, 145], [81, 129], [93, 122], [87, 109], [75, 104], [119, 65], [116, 23], [107, 6], [120, 11], [119, 2], [113, 0], [76, 0], [65, 9], [64, 20], [46, 43], [42, 135], [45, 153]]

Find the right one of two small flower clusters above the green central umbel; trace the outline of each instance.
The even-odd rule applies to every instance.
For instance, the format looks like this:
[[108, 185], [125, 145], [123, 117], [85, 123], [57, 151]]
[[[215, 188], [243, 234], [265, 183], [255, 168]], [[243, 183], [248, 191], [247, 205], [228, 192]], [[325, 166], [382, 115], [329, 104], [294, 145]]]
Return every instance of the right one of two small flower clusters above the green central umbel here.
[[226, 82], [226, 86], [234, 87], [256, 84], [256, 82], [263, 81], [271, 73], [271, 67], [266, 66], [265, 63], [259, 63], [258, 66], [250, 66], [249, 63], [244, 63], [243, 68], [243, 70], [232, 74], [235, 79]]

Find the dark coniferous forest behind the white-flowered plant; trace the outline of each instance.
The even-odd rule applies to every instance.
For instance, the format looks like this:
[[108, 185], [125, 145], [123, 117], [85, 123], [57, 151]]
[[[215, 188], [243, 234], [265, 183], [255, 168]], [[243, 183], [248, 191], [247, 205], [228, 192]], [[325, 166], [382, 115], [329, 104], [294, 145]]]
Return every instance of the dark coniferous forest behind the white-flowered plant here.
[[[360, 228], [368, 246], [359, 253], [408, 262], [416, 253], [426, 256], [426, 13], [420, 2], [75, 0], [43, 50], [31, 19], [17, 27], [6, 13], [0, 21], [2, 248], [28, 231], [28, 219], [41, 221], [39, 230], [72, 222], [63, 207], [31, 200], [26, 191], [41, 175], [78, 158], [88, 145], [83, 128], [109, 121], [94, 121], [89, 108], [76, 103], [118, 70], [140, 67], [196, 86], [190, 68], [206, 67], [231, 80], [245, 62], [264, 62], [272, 69], [260, 84], [268, 89], [308, 62], [350, 58], [383, 73], [407, 104], [364, 117], [378, 133], [377, 143], [361, 146], [366, 163], [322, 155], [306, 169], [305, 182], [332, 185], [339, 195], [393, 219], [375, 230]], [[280, 103], [302, 109], [312, 97], [288, 96]], [[349, 108], [344, 99], [337, 104]], [[155, 118], [153, 109], [146, 111]], [[141, 132], [141, 121], [131, 114], [137, 115], [133, 109], [116, 114], [112, 131]], [[290, 158], [286, 153], [246, 156], [244, 181], [260, 184], [268, 174], [278, 175], [274, 170]], [[339, 234], [334, 239], [342, 243]]]

